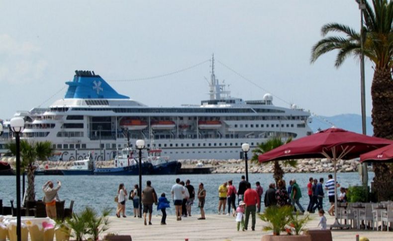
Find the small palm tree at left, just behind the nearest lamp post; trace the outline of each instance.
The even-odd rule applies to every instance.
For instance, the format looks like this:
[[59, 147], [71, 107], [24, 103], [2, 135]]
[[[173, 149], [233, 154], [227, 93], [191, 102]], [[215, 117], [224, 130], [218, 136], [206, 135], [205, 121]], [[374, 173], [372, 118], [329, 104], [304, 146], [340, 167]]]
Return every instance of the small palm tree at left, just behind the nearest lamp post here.
[[[7, 149], [15, 155], [15, 143], [7, 144]], [[52, 156], [52, 143], [49, 141], [29, 143], [26, 140], [20, 141], [20, 158], [22, 171], [27, 170], [27, 198], [26, 201], [35, 200], [34, 171], [37, 168], [34, 164], [37, 160], [47, 160]]]

